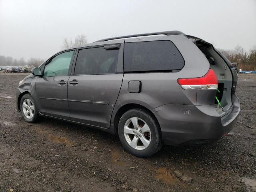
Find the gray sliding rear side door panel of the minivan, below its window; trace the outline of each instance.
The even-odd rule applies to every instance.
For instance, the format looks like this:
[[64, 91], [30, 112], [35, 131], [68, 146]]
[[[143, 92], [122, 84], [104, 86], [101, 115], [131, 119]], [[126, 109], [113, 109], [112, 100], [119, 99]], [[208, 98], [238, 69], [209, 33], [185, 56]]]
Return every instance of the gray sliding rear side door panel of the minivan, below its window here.
[[[122, 84], [123, 74], [78, 75], [77, 85], [68, 84], [70, 120], [109, 128], [112, 110]], [[72, 100], [107, 102], [91, 104]]]

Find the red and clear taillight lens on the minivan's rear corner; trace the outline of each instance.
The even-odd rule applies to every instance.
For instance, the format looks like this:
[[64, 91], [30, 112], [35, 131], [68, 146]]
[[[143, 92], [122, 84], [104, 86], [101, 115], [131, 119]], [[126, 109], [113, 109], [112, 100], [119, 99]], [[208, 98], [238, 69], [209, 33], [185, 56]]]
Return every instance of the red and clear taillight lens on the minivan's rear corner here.
[[177, 80], [183, 89], [217, 89], [218, 80], [212, 69], [198, 78], [181, 78]]

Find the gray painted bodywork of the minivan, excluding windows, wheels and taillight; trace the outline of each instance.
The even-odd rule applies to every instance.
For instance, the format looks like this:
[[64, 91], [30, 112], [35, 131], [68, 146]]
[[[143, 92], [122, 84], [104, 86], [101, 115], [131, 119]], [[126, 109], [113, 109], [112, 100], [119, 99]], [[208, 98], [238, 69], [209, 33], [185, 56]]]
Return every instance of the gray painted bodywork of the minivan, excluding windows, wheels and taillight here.
[[[185, 61], [182, 70], [123, 74], [124, 43], [154, 40], [170, 40], [175, 44]], [[121, 44], [115, 74], [74, 75], [78, 49], [110, 44]], [[30, 75], [18, 87], [17, 101], [22, 93], [30, 92], [40, 115], [113, 134], [116, 132], [114, 118], [118, 110], [129, 104], [139, 104], [158, 120], [165, 144], [218, 139], [232, 129], [239, 114], [239, 99], [231, 89], [228, 90], [232, 94], [231, 107], [224, 114], [219, 114], [214, 106], [216, 90], [184, 90], [178, 85], [178, 78], [201, 77], [210, 68], [204, 54], [185, 35], [110, 40], [73, 49], [76, 52], [70, 76], [40, 78]], [[237, 79], [233, 83], [234, 73], [229, 73], [231, 80], [227, 84], [232, 87]], [[59, 84], [62, 80], [66, 84]], [[77, 84], [70, 84], [73, 81]]]

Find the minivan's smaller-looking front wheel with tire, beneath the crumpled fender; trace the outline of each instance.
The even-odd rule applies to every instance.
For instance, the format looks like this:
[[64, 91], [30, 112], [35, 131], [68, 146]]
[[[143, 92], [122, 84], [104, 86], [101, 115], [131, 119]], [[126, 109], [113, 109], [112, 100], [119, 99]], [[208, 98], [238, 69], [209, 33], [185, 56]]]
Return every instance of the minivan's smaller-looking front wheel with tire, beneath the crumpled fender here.
[[30, 94], [22, 96], [20, 100], [20, 111], [26, 122], [34, 123], [39, 118], [36, 104]]

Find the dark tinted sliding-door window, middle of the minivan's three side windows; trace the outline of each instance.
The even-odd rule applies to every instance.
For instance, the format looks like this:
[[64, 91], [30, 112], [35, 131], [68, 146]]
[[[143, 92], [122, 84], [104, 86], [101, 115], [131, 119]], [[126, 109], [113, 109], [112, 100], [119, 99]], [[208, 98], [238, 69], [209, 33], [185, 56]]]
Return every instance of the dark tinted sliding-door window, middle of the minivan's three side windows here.
[[103, 47], [82, 49], [78, 52], [75, 75], [111, 74], [116, 71], [119, 50]]

